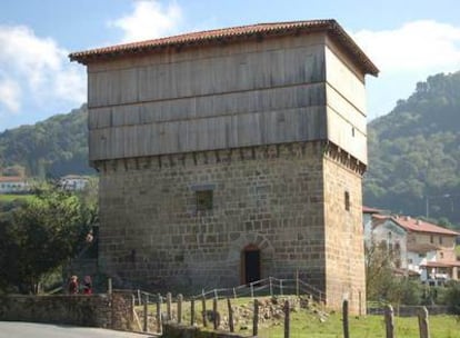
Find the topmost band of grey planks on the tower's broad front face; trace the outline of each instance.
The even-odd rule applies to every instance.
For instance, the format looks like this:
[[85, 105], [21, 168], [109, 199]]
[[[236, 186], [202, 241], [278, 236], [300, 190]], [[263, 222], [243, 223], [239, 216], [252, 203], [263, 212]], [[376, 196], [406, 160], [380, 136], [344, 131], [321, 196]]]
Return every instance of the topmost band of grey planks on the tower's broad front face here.
[[[324, 81], [320, 46], [89, 73], [89, 107]], [[90, 67], [91, 68], [91, 67]]]

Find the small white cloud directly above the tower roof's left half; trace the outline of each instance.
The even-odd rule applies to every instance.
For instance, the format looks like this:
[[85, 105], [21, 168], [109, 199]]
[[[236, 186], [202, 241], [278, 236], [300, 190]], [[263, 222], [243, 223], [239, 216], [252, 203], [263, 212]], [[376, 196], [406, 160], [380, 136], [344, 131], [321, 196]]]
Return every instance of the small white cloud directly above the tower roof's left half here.
[[154, 39], [178, 31], [182, 11], [177, 3], [163, 8], [157, 0], [142, 0], [133, 4], [132, 13], [109, 22], [109, 26], [123, 30], [122, 42]]

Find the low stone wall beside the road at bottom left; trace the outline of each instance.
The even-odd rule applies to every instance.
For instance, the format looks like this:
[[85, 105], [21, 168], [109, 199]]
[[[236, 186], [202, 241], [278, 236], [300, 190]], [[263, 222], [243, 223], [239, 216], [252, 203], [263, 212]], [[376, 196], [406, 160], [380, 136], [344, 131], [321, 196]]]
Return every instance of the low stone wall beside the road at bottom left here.
[[0, 320], [130, 330], [133, 326], [132, 296], [130, 294], [1, 296]]

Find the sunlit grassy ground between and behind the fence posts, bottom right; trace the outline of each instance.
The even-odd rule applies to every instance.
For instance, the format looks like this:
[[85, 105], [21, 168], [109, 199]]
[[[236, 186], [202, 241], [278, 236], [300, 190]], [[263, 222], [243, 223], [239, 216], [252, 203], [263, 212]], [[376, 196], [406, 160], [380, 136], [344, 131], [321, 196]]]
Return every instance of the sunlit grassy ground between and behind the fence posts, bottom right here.
[[[260, 299], [260, 298], [259, 298]], [[232, 307], [234, 312], [234, 331], [242, 336], [252, 336], [252, 308], [253, 302], [250, 298], [232, 299]], [[278, 310], [281, 308], [278, 306]], [[137, 307], [141, 310], [142, 307]], [[172, 317], [177, 314], [177, 305], [173, 304]], [[202, 328], [201, 320], [201, 301], [196, 301], [196, 322]], [[212, 301], [207, 301], [207, 310], [212, 310]], [[166, 305], [162, 304], [162, 312], [166, 312]], [[190, 322], [190, 302], [187, 301], [182, 306], [183, 324]], [[227, 300], [219, 300], [218, 311], [221, 314], [221, 322], [228, 321]], [[156, 306], [149, 306], [151, 316], [156, 314]], [[261, 315], [261, 310], [259, 310]], [[140, 315], [140, 320], [142, 316]], [[263, 315], [260, 317], [263, 318]], [[291, 318], [291, 338], [341, 338], [342, 334], [342, 315], [339, 312], [328, 312], [324, 316], [319, 315], [314, 308], [296, 307], [290, 314]], [[357, 338], [374, 338], [386, 337], [386, 328], [383, 316], [350, 316], [350, 337]], [[432, 338], [459, 338], [460, 337], [460, 321], [456, 316], [430, 316], [429, 317], [430, 332]], [[223, 325], [226, 326], [226, 325]], [[154, 325], [151, 326], [153, 331]], [[208, 324], [207, 330], [212, 328], [212, 322]], [[396, 337], [401, 338], [419, 338], [418, 318], [394, 318]], [[228, 327], [223, 327], [228, 330]], [[284, 318], [283, 316], [270, 316], [268, 319], [260, 319], [258, 337], [267, 338], [282, 338], [284, 337]]]

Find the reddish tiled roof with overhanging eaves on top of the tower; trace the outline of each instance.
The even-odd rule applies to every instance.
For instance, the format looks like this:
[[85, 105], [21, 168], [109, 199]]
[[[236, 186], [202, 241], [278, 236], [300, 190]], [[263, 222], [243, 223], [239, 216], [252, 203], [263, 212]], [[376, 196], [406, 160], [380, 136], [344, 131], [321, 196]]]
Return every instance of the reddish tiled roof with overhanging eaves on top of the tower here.
[[69, 54], [71, 61], [88, 64], [102, 58], [116, 58], [127, 54], [142, 54], [161, 52], [167, 47], [184, 47], [198, 44], [220, 44], [222, 42], [240, 41], [244, 39], [260, 39], [268, 36], [297, 36], [312, 32], [327, 32], [334, 38], [344, 50], [357, 61], [363, 72], [377, 76], [379, 69], [356, 44], [350, 36], [336, 20], [310, 20], [258, 23], [232, 28], [214, 29], [200, 32], [191, 32], [180, 36], [167, 37], [154, 40], [124, 43], [97, 48], [86, 51], [77, 51]]

